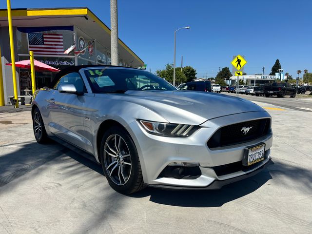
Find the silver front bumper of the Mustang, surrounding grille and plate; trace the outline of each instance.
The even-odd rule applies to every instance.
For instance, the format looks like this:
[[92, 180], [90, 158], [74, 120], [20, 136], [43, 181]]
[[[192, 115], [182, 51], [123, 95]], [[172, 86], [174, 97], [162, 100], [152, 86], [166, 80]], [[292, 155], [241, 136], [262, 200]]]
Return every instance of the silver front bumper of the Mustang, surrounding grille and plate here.
[[[270, 161], [272, 132], [266, 136], [245, 143], [212, 149], [207, 146], [209, 138], [220, 127], [260, 118], [271, 117], [265, 111], [258, 111], [211, 119], [201, 124], [201, 128], [191, 137], [187, 138], [151, 135], [147, 133], [137, 121], [132, 122], [127, 130], [137, 146], [145, 184], [153, 187], [166, 188], [205, 189], [209, 187], [209, 189], [213, 189], [219, 188], [221, 184], [224, 185], [224, 183], [234, 181], [234, 178], [244, 178], [245, 175], [251, 173], [255, 174]], [[217, 175], [214, 170], [215, 167], [241, 162], [245, 147], [260, 144], [261, 142], [266, 144], [265, 160], [257, 163], [255, 167], [247, 171], [237, 170], [235, 172], [229, 172], [228, 174]], [[189, 179], [161, 177], [161, 172], [169, 164], [174, 162], [199, 163], [201, 175]]]

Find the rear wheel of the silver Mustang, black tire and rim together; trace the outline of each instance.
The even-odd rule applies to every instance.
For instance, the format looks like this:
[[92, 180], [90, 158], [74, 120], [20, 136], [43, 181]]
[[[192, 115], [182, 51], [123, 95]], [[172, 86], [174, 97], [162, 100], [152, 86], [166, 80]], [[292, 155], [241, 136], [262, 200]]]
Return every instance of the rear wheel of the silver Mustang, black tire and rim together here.
[[35, 108], [33, 111], [33, 130], [34, 130], [34, 135], [39, 144], [44, 144], [49, 141], [49, 138], [47, 136], [47, 133], [44, 128], [44, 123], [40, 114], [40, 111], [38, 107]]

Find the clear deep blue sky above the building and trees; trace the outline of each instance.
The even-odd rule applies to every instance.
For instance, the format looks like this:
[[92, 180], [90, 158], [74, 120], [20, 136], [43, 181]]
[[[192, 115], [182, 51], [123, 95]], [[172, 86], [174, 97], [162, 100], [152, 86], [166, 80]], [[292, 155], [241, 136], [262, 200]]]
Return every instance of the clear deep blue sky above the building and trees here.
[[[110, 0], [11, 0], [12, 8], [88, 7], [110, 27]], [[0, 8], [6, 8], [1, 1]], [[215, 77], [233, 56], [248, 75], [268, 75], [276, 59], [284, 73], [312, 72], [312, 0], [118, 0], [118, 36], [155, 73], [174, 59], [197, 78]], [[302, 74], [300, 75], [300, 77]]]

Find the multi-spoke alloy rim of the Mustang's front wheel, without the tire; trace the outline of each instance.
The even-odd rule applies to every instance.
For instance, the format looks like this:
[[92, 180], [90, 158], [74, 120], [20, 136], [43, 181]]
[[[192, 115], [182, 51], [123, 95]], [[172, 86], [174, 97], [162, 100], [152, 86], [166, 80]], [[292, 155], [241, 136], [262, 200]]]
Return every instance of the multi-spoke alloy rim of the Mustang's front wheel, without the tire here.
[[104, 166], [107, 176], [117, 185], [124, 185], [131, 175], [131, 155], [126, 141], [117, 134], [107, 137], [104, 145]]

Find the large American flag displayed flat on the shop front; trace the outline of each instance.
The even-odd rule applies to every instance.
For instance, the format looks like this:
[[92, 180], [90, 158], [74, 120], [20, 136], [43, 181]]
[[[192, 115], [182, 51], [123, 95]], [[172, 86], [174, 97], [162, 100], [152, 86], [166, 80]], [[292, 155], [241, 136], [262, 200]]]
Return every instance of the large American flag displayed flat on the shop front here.
[[29, 51], [35, 55], [63, 55], [63, 35], [50, 33], [28, 33]]

